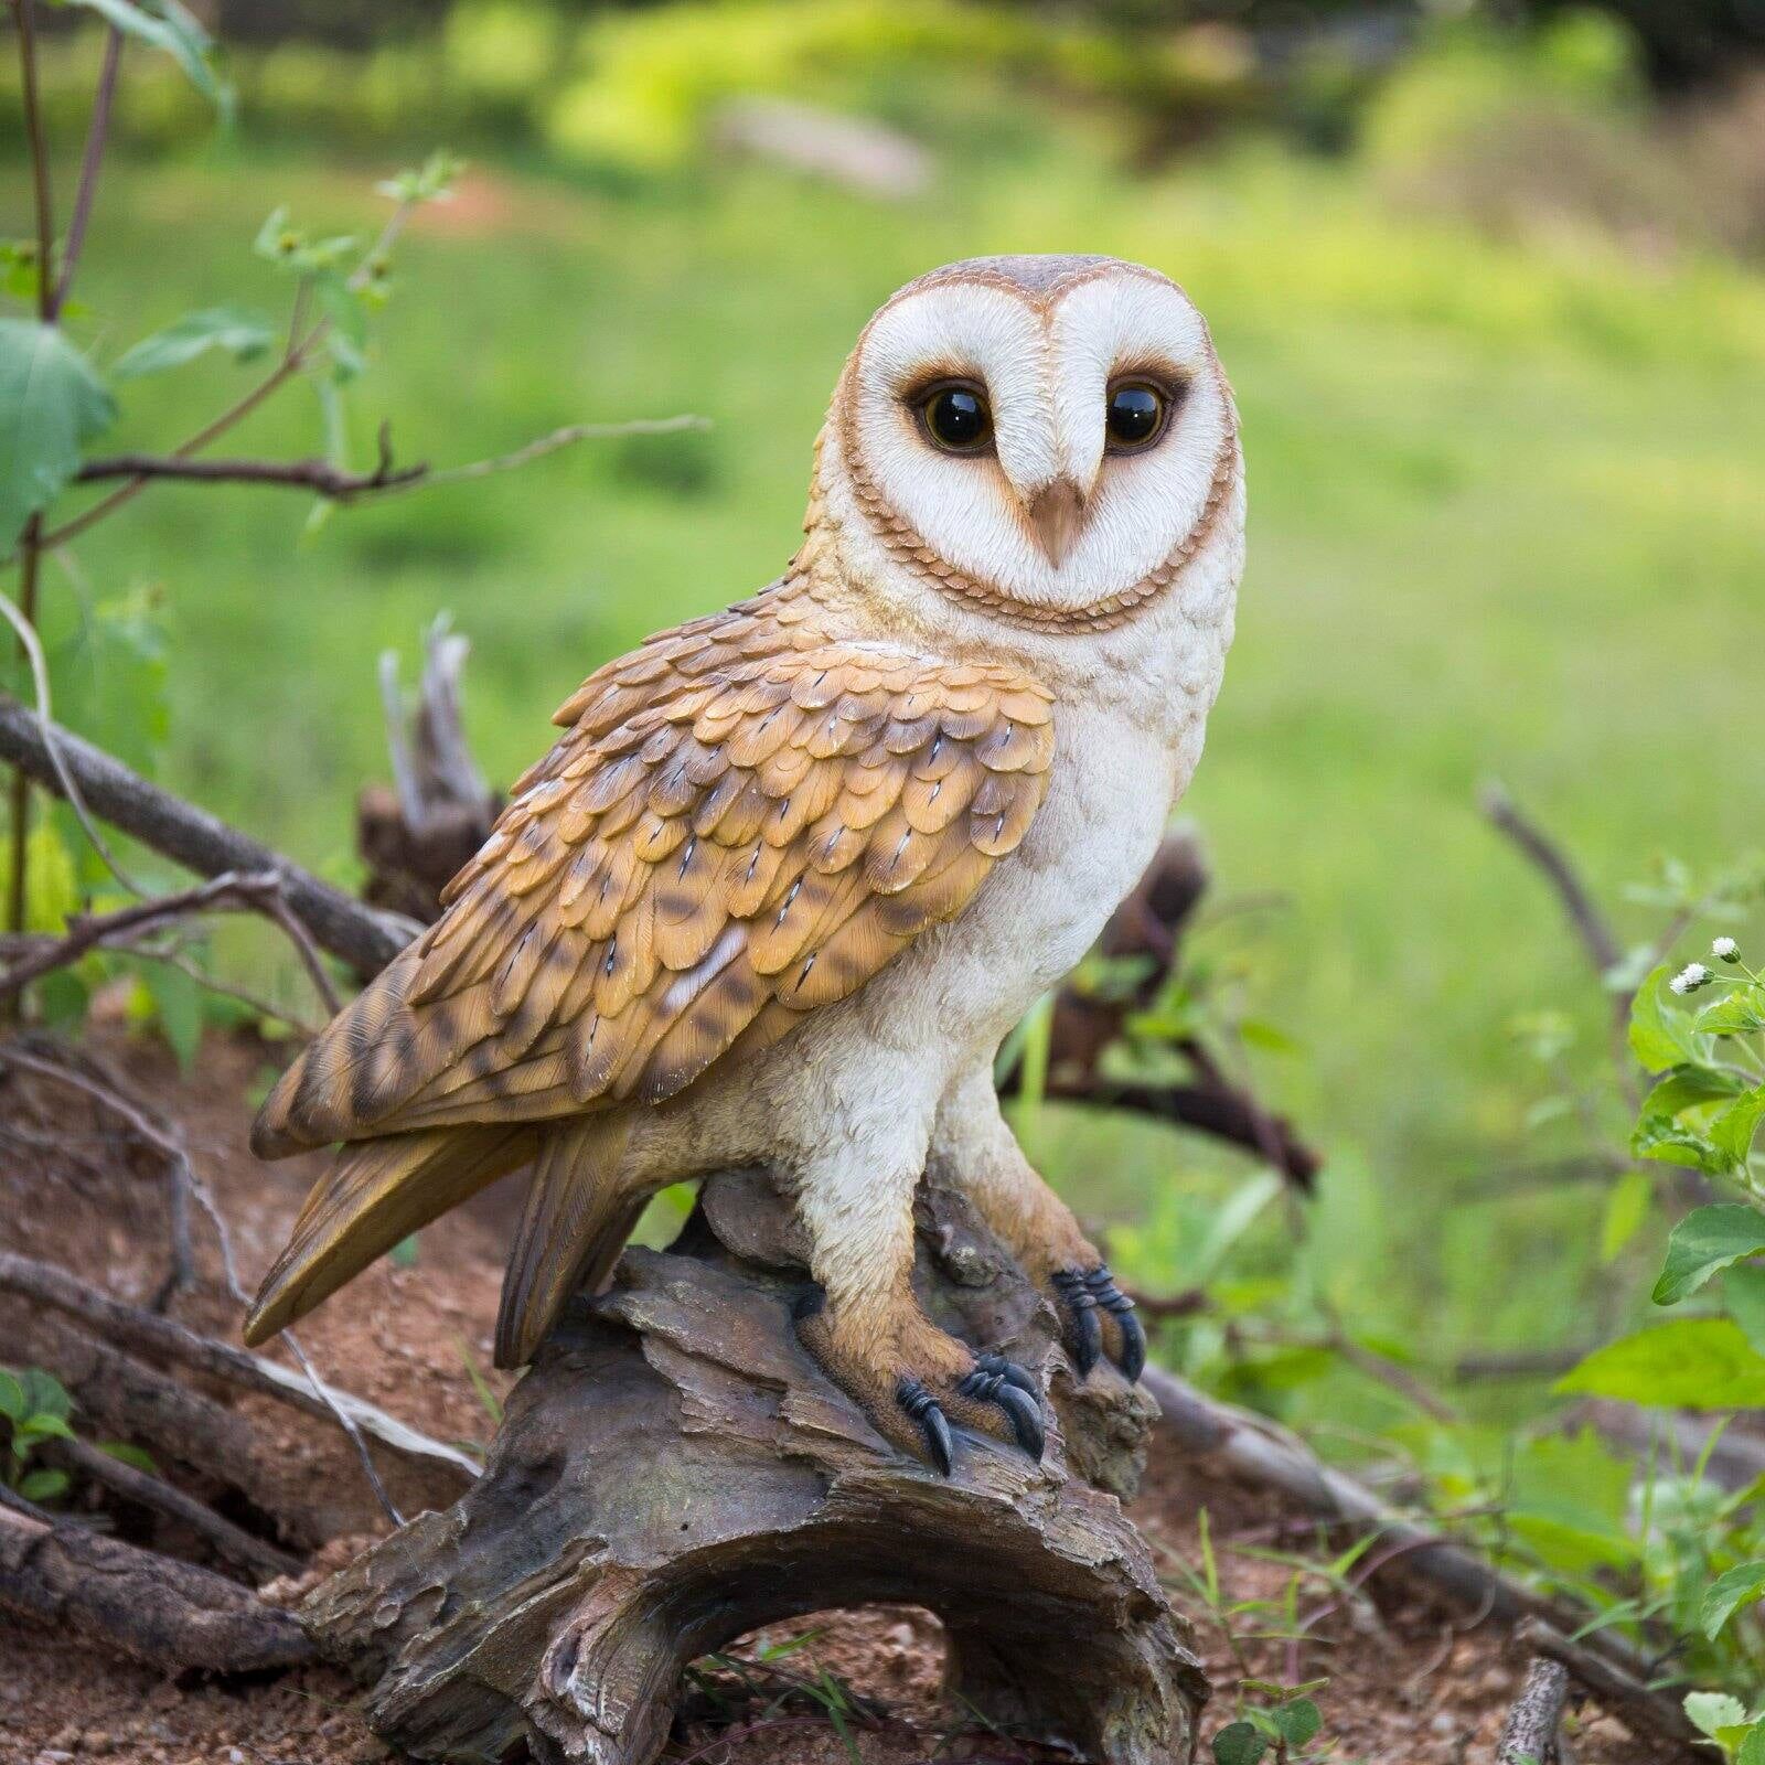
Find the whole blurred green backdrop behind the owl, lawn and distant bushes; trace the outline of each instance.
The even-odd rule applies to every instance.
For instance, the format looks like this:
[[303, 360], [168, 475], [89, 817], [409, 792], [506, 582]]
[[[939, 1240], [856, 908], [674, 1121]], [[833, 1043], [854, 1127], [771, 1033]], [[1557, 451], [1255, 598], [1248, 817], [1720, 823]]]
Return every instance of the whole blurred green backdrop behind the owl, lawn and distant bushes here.
[[[1569, 1059], [1597, 1068], [1608, 1008], [1476, 791], [1506, 780], [1638, 934], [1659, 914], [1620, 891], [1654, 854], [1705, 868], [1751, 838], [1765, 76], [1737, 16], [464, 0], [371, 30], [240, 4], [219, 28], [229, 132], [175, 71], [125, 60], [72, 318], [101, 362], [192, 307], [277, 309], [288, 282], [251, 254], [267, 214], [365, 240], [376, 178], [447, 143], [471, 169], [399, 245], [349, 459], [383, 418], [438, 464], [579, 420], [711, 427], [312, 531], [286, 491], [139, 498], [49, 568], [44, 625], [152, 605], [168, 784], [353, 877], [353, 798], [387, 771], [383, 648], [413, 660], [452, 611], [468, 729], [508, 782], [597, 662], [778, 572], [840, 362], [895, 286], [999, 251], [1156, 265], [1214, 327], [1251, 485], [1184, 810], [1218, 872], [1195, 948], [1283, 1033], [1257, 1038], [1257, 1084], [1329, 1156], [1297, 1267], [1280, 1205], [1237, 1267], [1428, 1359], [1588, 1334], [1606, 1200], [1502, 1175], [1581, 1145], [1530, 1114], [1509, 1025], [1560, 1008]], [[95, 60], [90, 32], [44, 46], [67, 182]], [[0, 131], [0, 231], [23, 235], [16, 86]], [[106, 447], [164, 447], [252, 372], [208, 357], [131, 381]], [[327, 445], [295, 387], [228, 450]], [[67, 715], [101, 738], [116, 720], [101, 681]], [[1248, 1172], [1098, 1115], [1025, 1133], [1154, 1292], [1195, 1278]], [[1334, 1380], [1294, 1400], [1393, 1401]]]

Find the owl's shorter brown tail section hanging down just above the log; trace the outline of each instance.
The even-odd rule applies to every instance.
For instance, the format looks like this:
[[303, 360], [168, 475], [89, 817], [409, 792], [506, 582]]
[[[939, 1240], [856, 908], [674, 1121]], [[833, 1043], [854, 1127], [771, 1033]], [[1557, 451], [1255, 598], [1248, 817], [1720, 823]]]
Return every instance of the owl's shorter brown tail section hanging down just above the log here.
[[602, 1283], [646, 1197], [618, 1181], [630, 1119], [582, 1115], [545, 1137], [508, 1253], [496, 1364], [524, 1366], [579, 1287]]

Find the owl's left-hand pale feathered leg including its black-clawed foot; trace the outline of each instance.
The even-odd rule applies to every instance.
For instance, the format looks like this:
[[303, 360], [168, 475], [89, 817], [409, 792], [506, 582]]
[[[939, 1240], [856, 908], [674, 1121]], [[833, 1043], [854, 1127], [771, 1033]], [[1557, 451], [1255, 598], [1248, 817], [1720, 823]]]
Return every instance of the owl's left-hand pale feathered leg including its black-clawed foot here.
[[[861, 1147], [861, 1140], [860, 1140]], [[798, 1310], [798, 1336], [877, 1431], [950, 1476], [962, 1430], [1041, 1458], [1043, 1423], [1029, 1373], [946, 1336], [913, 1297], [913, 1193], [920, 1160], [860, 1168], [851, 1142], [798, 1172], [798, 1218], [821, 1296]]]

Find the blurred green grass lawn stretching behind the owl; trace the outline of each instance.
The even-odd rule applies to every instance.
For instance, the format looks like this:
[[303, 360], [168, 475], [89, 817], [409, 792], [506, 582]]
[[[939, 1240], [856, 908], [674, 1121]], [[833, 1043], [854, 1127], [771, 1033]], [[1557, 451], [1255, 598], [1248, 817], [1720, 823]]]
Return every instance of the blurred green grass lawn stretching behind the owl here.
[[[81, 288], [101, 355], [192, 305], [277, 300], [247, 249], [261, 217], [291, 201], [319, 231], [367, 231], [371, 178], [233, 157], [116, 168]], [[0, 189], [19, 215], [16, 176]], [[1498, 247], [1255, 152], [1133, 182], [1063, 138], [900, 207], [757, 169], [641, 187], [494, 175], [409, 237], [355, 399], [362, 457], [381, 415], [402, 455], [436, 462], [582, 418], [690, 409], [713, 431], [344, 510], [309, 542], [284, 492], [141, 498], [79, 567], [101, 591], [164, 591], [162, 775], [348, 874], [353, 794], [385, 771], [376, 653], [415, 655], [447, 607], [475, 646], [471, 736], [510, 778], [600, 658], [777, 574], [824, 401], [877, 302], [932, 263], [1011, 249], [1170, 270], [1237, 388], [1251, 565], [1188, 812], [1223, 893], [1283, 900], [1257, 990], [1304, 1057], [1264, 1077], [1334, 1158], [1331, 1280], [1435, 1345], [1562, 1334], [1588, 1195], [1454, 1193], [1520, 1140], [1530, 1080], [1507, 1018], [1573, 1001], [1592, 1038], [1599, 1004], [1474, 789], [1506, 778], [1608, 897], [1649, 851], [1724, 856], [1735, 805], [1760, 801], [1765, 284], [1740, 270], [1668, 272], [1588, 240]], [[162, 443], [244, 372], [127, 388], [118, 445]], [[237, 438], [319, 443], [300, 388]], [[1156, 1130], [1052, 1117], [1045, 1138], [1103, 1218], [1144, 1213], [1198, 1165]]]

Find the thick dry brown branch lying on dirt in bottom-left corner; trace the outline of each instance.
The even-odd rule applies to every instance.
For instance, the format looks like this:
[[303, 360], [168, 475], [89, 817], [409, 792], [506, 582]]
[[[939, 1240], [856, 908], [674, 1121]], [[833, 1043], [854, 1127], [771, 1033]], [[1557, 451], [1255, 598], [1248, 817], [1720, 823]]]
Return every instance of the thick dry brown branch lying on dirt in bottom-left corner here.
[[0, 1606], [168, 1671], [254, 1673], [314, 1657], [300, 1626], [212, 1569], [155, 1557], [0, 1488]]

